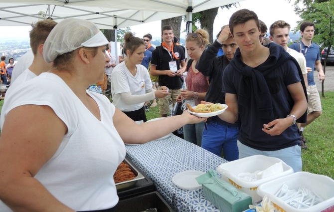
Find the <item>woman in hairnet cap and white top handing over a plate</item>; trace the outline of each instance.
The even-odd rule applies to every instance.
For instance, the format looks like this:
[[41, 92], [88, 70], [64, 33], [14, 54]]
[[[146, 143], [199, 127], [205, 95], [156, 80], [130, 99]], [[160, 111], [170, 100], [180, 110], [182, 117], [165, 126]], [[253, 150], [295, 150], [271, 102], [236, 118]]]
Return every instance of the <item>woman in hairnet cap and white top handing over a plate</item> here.
[[[145, 143], [203, 121], [183, 112], [136, 124], [102, 94], [87, 90], [109, 62], [92, 22], [67, 18], [44, 43], [50, 72], [17, 86], [1, 111], [0, 211], [110, 211], [113, 175], [125, 143]], [[155, 132], [155, 133], [152, 133]]]

